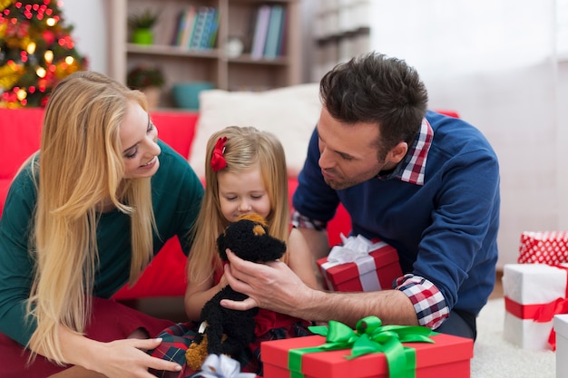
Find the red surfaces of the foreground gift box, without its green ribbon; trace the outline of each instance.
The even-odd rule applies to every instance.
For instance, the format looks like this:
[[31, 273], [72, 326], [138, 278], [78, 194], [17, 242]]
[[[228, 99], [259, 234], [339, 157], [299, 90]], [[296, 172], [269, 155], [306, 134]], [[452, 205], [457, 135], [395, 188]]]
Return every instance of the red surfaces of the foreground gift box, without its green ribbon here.
[[[450, 334], [431, 336], [434, 344], [404, 343], [416, 351], [416, 378], [469, 378], [474, 342]], [[289, 351], [324, 344], [323, 336], [305, 336], [264, 342], [260, 345], [265, 378], [290, 378]], [[367, 354], [352, 360], [345, 358], [350, 351], [315, 352], [302, 355], [301, 372], [304, 378], [395, 378], [389, 377], [385, 354]]]

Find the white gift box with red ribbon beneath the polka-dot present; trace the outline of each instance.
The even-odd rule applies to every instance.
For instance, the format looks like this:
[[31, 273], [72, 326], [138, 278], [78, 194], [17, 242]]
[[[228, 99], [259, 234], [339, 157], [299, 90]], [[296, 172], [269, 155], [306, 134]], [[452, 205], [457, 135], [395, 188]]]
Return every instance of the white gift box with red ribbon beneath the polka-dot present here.
[[553, 350], [553, 316], [568, 312], [568, 266], [505, 264], [504, 339], [524, 349]]

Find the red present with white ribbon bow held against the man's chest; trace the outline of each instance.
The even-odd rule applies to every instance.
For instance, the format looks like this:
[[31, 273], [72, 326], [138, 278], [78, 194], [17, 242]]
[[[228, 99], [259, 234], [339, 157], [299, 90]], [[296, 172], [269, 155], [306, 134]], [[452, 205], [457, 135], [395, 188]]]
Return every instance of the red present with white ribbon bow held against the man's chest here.
[[344, 237], [343, 244], [331, 248], [328, 257], [318, 259], [318, 267], [328, 290], [377, 291], [392, 288], [402, 270], [397, 249], [384, 241], [366, 237]]

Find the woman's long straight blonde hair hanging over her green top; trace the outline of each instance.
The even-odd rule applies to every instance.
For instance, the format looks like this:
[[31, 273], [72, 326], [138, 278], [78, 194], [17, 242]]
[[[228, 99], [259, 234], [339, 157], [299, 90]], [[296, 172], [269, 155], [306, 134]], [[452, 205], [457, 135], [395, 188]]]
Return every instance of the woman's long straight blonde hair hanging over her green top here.
[[123, 179], [119, 131], [128, 102], [146, 109], [142, 92], [101, 73], [78, 72], [55, 87], [45, 108], [39, 159], [32, 163], [39, 180], [27, 312], [37, 323], [30, 346], [56, 363], [64, 363], [58, 327], [83, 334], [89, 321], [105, 199], [132, 219], [131, 284], [152, 258], [150, 178]]

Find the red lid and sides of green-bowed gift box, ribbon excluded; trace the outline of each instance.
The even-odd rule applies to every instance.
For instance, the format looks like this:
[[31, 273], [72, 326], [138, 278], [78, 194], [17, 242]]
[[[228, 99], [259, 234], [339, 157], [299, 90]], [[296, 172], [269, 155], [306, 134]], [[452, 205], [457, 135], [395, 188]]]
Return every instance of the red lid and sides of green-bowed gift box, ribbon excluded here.
[[[474, 342], [465, 337], [436, 334], [430, 343], [405, 343], [416, 350], [416, 369], [455, 361], [469, 360], [474, 355]], [[271, 363], [288, 369], [289, 350], [325, 344], [323, 336], [304, 336], [281, 339], [261, 344], [263, 363]], [[345, 358], [349, 349], [308, 353], [302, 356], [302, 372], [307, 376], [326, 378], [354, 376], [354, 370], [365, 372], [365, 377], [384, 374], [387, 371], [385, 354], [367, 354], [352, 360]]]

